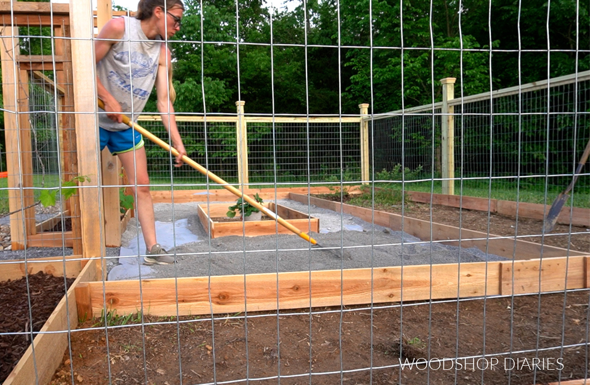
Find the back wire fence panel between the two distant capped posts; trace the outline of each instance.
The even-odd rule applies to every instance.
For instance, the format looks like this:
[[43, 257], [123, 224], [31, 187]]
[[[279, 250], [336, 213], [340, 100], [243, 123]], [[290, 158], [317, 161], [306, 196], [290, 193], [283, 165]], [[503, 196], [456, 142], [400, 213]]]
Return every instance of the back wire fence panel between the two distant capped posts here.
[[309, 124], [250, 122], [250, 182], [360, 180], [359, 135], [359, 123], [337, 119]]

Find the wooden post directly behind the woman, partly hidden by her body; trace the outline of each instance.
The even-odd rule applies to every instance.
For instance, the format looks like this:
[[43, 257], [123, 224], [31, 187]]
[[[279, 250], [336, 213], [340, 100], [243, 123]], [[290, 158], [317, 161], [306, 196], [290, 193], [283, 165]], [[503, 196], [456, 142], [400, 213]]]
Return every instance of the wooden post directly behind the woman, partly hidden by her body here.
[[[113, 18], [113, 3], [111, 0], [99, 0], [97, 4], [97, 23], [99, 31]], [[113, 156], [109, 149], [100, 154], [102, 186], [119, 185], [119, 157]], [[109, 247], [121, 245], [121, 212], [119, 187], [103, 187], [104, 199], [104, 243]]]

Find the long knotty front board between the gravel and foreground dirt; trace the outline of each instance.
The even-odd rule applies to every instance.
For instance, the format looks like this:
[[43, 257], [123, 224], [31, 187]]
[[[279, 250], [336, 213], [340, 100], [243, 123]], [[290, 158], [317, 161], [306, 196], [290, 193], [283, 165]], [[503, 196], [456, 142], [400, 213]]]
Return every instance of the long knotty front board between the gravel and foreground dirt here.
[[[402, 277], [403, 270], [403, 281]], [[89, 282], [94, 316], [100, 316], [103, 295], [107, 310], [117, 314], [143, 311], [151, 315], [198, 315], [268, 311], [473, 297], [500, 293], [500, 262], [412, 265]], [[104, 291], [103, 291], [104, 283]], [[245, 292], [244, 292], [245, 288]], [[178, 292], [178, 297], [176, 293]], [[278, 298], [277, 298], [278, 292]], [[212, 301], [209, 302], [209, 295]], [[247, 306], [245, 306], [247, 304]]]

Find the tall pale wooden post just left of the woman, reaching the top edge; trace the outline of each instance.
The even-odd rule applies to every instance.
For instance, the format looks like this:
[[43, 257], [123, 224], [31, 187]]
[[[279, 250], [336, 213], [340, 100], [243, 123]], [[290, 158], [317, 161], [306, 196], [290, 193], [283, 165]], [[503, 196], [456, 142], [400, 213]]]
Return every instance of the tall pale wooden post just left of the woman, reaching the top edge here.
[[[82, 225], [82, 255], [84, 258], [104, 256], [103, 212], [101, 202], [99, 154], [99, 131], [96, 115], [96, 78], [93, 78], [94, 60], [93, 21], [90, 2], [70, 0], [71, 52], [74, 81], [74, 114], [76, 119], [76, 144], [78, 174], [90, 178], [80, 183], [80, 211]], [[97, 259], [97, 271], [102, 276], [101, 261]]]

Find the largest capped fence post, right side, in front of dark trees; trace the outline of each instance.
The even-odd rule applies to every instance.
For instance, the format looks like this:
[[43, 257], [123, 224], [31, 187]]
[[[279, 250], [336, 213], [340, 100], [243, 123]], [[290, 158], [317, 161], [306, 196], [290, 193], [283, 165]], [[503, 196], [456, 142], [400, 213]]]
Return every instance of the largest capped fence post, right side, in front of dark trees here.
[[455, 194], [455, 107], [449, 106], [448, 101], [455, 98], [456, 78], [441, 79], [442, 107], [441, 107], [441, 149], [442, 149], [442, 193]]

